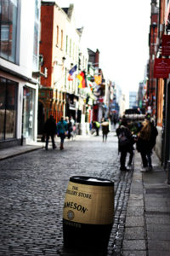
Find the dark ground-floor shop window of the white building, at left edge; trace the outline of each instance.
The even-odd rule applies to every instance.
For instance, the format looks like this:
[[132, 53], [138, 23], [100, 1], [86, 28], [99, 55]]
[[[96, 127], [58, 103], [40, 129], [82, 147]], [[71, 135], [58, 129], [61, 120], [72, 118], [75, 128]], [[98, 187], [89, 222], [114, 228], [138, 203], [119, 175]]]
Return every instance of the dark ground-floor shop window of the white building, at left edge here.
[[0, 140], [16, 133], [17, 83], [0, 77]]

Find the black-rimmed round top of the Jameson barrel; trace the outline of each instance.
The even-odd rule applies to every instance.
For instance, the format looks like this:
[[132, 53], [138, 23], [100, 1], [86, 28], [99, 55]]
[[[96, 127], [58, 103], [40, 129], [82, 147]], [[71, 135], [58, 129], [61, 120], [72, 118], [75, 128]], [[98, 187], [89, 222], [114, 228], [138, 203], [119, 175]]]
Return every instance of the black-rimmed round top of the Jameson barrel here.
[[111, 180], [100, 177], [72, 176], [70, 177], [70, 181], [94, 186], [114, 186]]

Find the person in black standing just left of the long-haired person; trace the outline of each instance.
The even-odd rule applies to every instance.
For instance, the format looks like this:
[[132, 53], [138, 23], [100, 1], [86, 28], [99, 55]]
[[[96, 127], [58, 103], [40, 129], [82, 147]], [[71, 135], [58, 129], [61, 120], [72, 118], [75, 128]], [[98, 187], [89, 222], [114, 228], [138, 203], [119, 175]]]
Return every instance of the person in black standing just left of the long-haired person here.
[[[116, 135], [118, 137], [118, 152], [121, 153], [120, 170], [128, 171], [129, 167], [132, 166], [132, 161], [133, 161], [134, 140], [133, 140], [132, 133], [128, 128], [127, 119], [122, 119], [122, 122], [120, 123], [119, 127], [116, 129]], [[126, 166], [127, 153], [129, 154], [128, 164], [127, 164], [128, 168]]]

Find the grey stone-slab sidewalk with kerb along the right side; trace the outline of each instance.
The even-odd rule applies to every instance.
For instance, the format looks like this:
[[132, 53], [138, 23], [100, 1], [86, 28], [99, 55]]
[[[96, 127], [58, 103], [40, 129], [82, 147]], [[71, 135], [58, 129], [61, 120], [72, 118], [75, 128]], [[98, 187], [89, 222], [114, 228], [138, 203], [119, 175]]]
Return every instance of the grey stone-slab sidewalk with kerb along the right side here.
[[140, 172], [140, 154], [135, 153], [123, 256], [170, 255], [170, 185], [155, 153], [152, 161], [152, 172]]

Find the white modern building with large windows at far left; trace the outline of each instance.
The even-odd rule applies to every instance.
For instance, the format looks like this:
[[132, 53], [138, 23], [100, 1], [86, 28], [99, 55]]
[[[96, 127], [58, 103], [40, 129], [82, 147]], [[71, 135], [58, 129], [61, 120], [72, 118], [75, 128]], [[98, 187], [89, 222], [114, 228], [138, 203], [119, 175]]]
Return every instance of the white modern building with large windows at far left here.
[[[37, 140], [40, 0], [0, 2], [0, 148]], [[29, 15], [28, 15], [29, 14]]]

